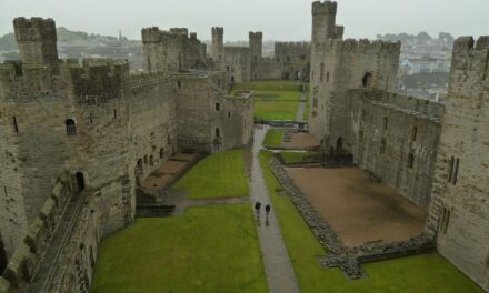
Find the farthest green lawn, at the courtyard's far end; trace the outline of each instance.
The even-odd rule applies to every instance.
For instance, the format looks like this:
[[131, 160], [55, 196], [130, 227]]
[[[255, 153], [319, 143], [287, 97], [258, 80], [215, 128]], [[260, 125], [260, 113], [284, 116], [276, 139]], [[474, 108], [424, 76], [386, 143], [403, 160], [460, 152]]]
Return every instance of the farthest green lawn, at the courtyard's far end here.
[[[299, 83], [297, 81], [267, 80], [234, 84], [236, 90], [255, 91], [255, 119], [295, 120], [299, 108]], [[272, 94], [273, 98], [259, 98]]]

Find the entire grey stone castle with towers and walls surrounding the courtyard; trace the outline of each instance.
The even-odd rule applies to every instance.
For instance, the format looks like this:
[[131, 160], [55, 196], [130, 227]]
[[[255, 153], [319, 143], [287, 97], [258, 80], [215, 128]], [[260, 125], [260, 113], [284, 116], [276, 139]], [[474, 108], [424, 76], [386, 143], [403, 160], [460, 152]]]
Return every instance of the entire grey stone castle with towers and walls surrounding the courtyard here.
[[489, 290], [489, 37], [456, 41], [443, 105], [397, 94], [400, 43], [343, 40], [336, 13], [313, 2], [311, 42], [276, 43], [273, 58], [261, 32], [224, 47], [212, 28], [208, 53], [187, 29], [146, 28], [143, 74], [61, 61], [53, 20], [16, 19], [21, 61], [0, 65], [0, 292], [88, 292], [99, 243], [133, 222], [143, 179], [177, 151], [250, 142], [253, 94], [229, 90], [259, 79], [310, 80], [325, 152], [425, 209], [438, 251]]

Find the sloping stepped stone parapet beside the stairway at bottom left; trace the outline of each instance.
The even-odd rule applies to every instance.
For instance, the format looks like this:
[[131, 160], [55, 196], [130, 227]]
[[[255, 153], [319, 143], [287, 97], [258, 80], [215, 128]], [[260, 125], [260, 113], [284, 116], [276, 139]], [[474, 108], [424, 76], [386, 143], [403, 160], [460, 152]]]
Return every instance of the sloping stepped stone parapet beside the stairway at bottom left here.
[[27, 287], [49, 247], [51, 236], [73, 191], [74, 183], [69, 174], [63, 174], [57, 180], [51, 195], [10, 259], [3, 272], [3, 281], [0, 281], [0, 292], [23, 291]]

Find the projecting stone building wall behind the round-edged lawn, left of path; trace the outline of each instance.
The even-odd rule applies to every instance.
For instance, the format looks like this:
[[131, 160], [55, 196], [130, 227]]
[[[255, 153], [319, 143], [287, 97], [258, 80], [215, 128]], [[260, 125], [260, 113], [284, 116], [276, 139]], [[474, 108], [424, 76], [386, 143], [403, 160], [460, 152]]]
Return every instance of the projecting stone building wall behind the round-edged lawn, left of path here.
[[209, 77], [181, 75], [179, 82], [177, 112], [184, 113], [177, 117], [179, 148], [216, 152], [251, 140], [252, 97], [226, 98]]

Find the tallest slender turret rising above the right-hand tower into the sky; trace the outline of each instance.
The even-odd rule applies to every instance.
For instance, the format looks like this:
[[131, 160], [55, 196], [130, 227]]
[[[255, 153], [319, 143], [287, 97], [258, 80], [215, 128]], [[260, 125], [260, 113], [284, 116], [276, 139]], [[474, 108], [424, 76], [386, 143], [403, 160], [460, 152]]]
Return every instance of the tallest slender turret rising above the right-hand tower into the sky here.
[[[327, 39], [336, 39], [337, 2], [316, 1], [312, 3], [312, 42], [321, 43]], [[342, 36], [342, 31], [341, 31]]]

